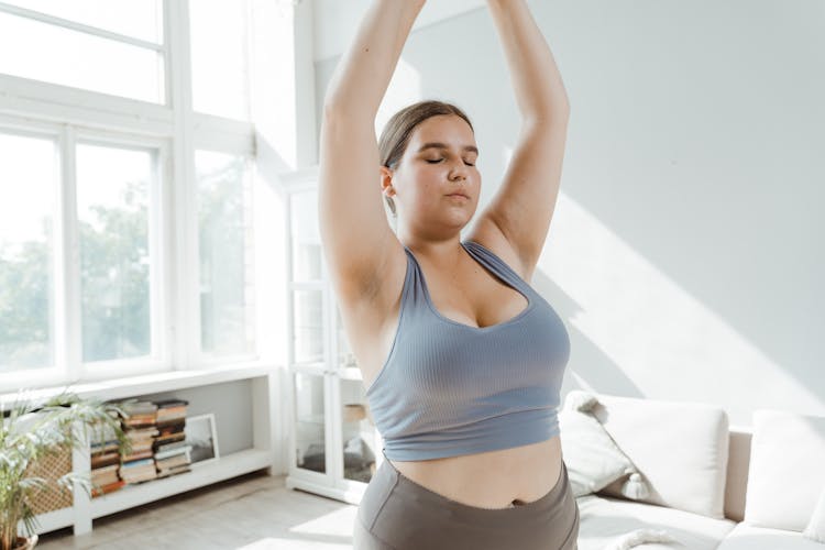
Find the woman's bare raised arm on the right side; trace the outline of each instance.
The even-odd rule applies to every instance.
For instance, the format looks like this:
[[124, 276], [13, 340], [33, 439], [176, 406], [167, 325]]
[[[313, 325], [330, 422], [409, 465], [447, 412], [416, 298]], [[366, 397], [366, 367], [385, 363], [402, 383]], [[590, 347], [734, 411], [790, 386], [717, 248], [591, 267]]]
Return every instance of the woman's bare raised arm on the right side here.
[[504, 47], [521, 132], [504, 182], [481, 212], [474, 233], [498, 246], [529, 280], [538, 262], [561, 180], [570, 105], [550, 47], [525, 0], [487, 0]]

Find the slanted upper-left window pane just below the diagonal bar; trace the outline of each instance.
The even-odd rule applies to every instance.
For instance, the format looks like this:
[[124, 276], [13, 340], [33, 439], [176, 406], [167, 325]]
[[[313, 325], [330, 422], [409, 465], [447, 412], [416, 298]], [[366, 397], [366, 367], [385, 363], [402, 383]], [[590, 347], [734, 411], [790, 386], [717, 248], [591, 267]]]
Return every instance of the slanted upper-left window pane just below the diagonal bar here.
[[0, 52], [14, 52], [0, 55], [0, 73], [164, 102], [163, 56], [152, 50], [0, 12]]

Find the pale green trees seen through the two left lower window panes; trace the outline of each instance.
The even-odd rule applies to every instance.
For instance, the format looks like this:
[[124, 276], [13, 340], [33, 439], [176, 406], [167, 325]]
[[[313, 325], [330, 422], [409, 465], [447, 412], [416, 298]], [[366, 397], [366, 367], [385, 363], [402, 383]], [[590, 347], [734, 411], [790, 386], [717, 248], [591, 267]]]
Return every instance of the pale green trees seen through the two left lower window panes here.
[[[131, 182], [123, 206], [95, 206], [81, 221], [82, 359], [151, 350], [146, 183]], [[52, 346], [52, 230], [14, 252], [0, 246], [0, 372], [48, 366]]]

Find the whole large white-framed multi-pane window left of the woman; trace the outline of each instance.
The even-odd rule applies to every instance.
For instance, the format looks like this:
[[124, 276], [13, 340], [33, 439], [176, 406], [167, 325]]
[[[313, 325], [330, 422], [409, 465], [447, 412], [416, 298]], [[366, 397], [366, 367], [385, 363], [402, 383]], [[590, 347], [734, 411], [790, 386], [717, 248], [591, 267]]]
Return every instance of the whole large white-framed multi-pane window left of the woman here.
[[0, 2], [0, 392], [257, 359], [249, 9]]

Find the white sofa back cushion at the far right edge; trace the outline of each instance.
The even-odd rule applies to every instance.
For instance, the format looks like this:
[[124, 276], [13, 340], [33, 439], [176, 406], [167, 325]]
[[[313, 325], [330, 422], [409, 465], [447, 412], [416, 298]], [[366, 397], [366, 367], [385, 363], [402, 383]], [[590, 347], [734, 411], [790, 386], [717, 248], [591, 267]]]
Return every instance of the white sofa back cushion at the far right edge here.
[[755, 410], [745, 522], [802, 532], [825, 486], [823, 464], [825, 417]]

